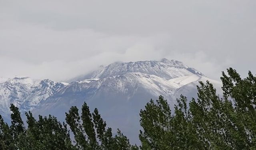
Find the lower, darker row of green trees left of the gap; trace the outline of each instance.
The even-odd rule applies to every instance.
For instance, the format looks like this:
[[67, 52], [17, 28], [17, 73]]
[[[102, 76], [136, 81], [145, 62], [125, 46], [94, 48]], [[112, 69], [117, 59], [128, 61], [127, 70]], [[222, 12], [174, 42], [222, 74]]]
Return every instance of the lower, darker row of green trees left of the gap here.
[[66, 113], [66, 122], [72, 130], [75, 141], [70, 139], [66, 124], [56, 117], [39, 116], [36, 120], [31, 112], [26, 113], [28, 127], [25, 128], [20, 112], [13, 104], [10, 106], [11, 125], [8, 126], [0, 115], [0, 150], [137, 150], [128, 138], [118, 130], [115, 136], [112, 129], [106, 129], [106, 122], [95, 109], [90, 114], [84, 103], [82, 115], [71, 107]]

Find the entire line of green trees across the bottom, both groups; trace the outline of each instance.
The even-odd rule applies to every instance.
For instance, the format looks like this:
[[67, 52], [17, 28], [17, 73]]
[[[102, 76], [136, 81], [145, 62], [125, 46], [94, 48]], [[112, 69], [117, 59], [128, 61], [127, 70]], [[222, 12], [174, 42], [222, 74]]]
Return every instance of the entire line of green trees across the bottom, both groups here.
[[[181, 95], [174, 110], [162, 96], [140, 110], [140, 146], [131, 145], [118, 129], [106, 127], [97, 108], [86, 103], [82, 113], [76, 106], [66, 112], [66, 123], [56, 117], [26, 112], [25, 128], [13, 104], [10, 126], [0, 115], [0, 149], [3, 150], [255, 150], [256, 77], [249, 71], [244, 79], [236, 70], [222, 72], [223, 96], [210, 82], [199, 82], [198, 98]], [[70, 138], [71, 132], [74, 141]]]

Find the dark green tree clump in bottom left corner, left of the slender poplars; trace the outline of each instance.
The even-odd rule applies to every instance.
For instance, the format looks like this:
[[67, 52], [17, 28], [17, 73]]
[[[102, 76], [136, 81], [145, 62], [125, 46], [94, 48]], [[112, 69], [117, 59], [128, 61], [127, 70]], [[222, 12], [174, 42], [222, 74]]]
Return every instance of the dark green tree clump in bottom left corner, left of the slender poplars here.
[[72, 150], [74, 146], [66, 124], [57, 118], [39, 116], [37, 121], [31, 112], [26, 113], [28, 128], [24, 127], [19, 109], [11, 104], [11, 125], [0, 115], [0, 148], [4, 150]]

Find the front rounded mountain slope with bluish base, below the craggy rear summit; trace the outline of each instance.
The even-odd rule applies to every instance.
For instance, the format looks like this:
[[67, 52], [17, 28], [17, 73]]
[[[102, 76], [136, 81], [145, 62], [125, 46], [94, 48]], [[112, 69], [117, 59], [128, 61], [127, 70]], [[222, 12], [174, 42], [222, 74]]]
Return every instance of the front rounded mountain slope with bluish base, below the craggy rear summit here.
[[120, 128], [132, 142], [138, 142], [139, 112], [150, 98], [159, 95], [170, 99], [176, 85], [164, 78], [140, 72], [128, 72], [123, 75], [101, 79], [89, 79], [72, 82], [46, 99], [37, 109], [38, 114], [53, 114], [65, 120], [65, 112], [70, 106], [86, 102], [91, 111], [98, 108], [107, 124], [115, 131]]

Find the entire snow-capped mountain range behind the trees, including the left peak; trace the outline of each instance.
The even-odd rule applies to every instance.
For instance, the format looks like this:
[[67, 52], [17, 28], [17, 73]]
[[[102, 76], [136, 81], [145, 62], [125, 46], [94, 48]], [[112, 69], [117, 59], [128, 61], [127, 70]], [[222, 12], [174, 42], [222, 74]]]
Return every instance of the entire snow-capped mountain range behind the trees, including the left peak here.
[[[8, 112], [10, 103], [22, 112], [52, 114], [65, 120], [71, 106], [81, 108], [86, 102], [91, 111], [98, 108], [102, 118], [116, 130], [120, 128], [132, 143], [138, 142], [139, 113], [145, 104], [159, 95], [171, 107], [183, 94], [196, 97], [198, 81], [210, 80], [217, 89], [222, 84], [176, 60], [115, 62], [89, 74], [69, 80], [69, 84], [30, 78], [0, 79], [0, 107]], [[8, 113], [7, 113], [8, 114]]]

